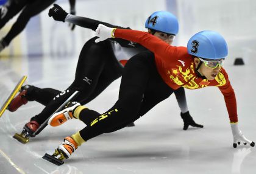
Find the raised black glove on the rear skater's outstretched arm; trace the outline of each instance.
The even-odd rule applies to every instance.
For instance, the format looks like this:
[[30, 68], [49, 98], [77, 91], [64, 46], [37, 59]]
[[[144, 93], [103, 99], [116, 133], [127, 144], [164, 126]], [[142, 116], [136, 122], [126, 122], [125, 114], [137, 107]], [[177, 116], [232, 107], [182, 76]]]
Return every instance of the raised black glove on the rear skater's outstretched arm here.
[[55, 21], [62, 21], [64, 23], [68, 13], [66, 13], [58, 4], [54, 4], [54, 7], [49, 10], [48, 15], [49, 17], [52, 16]]

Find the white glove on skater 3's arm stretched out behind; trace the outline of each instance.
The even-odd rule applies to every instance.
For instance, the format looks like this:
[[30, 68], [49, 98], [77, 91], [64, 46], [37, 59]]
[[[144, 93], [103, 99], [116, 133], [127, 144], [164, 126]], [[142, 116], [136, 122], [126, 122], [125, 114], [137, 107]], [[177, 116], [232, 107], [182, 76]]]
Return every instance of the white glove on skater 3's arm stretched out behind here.
[[95, 40], [96, 43], [100, 41], [104, 41], [108, 38], [114, 38], [113, 33], [115, 32], [116, 28], [110, 28], [107, 26], [104, 26], [102, 24], [99, 24], [98, 28], [95, 31], [96, 37], [99, 37]]

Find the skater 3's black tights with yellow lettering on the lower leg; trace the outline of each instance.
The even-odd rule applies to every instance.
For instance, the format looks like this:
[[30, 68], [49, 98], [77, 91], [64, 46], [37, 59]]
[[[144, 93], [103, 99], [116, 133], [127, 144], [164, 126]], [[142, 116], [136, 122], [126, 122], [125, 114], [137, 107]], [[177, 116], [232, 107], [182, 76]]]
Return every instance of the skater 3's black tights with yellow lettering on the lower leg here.
[[[157, 103], [172, 94], [157, 72], [152, 52], [143, 52], [132, 57], [124, 68], [119, 99], [104, 114], [85, 109], [79, 118], [87, 127], [80, 136], [85, 140], [126, 127], [140, 115], [147, 113]], [[143, 98], [144, 96], [144, 98]], [[97, 117], [91, 122], [91, 117]]]

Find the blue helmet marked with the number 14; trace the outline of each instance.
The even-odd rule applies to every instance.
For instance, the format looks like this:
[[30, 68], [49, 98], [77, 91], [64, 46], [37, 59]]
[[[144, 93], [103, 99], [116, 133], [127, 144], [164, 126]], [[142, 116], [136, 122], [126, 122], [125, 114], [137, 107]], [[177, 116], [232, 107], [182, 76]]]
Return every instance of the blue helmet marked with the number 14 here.
[[145, 27], [172, 35], [179, 32], [179, 23], [176, 16], [166, 11], [154, 12], [146, 20]]

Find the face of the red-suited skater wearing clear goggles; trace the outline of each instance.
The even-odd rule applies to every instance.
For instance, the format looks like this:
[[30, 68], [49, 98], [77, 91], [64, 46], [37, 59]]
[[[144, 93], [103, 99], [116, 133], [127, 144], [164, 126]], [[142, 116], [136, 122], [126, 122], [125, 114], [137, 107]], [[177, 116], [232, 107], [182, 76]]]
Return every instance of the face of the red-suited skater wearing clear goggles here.
[[[196, 68], [200, 63], [199, 58], [194, 58], [194, 63], [196, 64]], [[215, 77], [218, 75], [219, 70], [221, 69], [222, 63], [224, 60], [219, 60], [219, 61], [208, 61], [208, 62], [203, 62], [198, 69], [198, 72], [201, 75], [204, 75], [208, 80], [214, 80]]]

